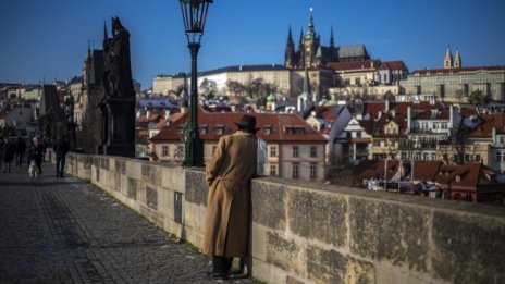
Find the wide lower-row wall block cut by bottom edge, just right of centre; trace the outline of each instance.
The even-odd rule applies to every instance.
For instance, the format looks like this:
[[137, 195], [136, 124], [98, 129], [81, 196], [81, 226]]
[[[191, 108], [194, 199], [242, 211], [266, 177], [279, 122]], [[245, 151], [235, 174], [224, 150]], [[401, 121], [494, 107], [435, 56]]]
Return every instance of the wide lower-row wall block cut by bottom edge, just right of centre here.
[[371, 263], [316, 246], [307, 249], [307, 274], [317, 283], [375, 283]]

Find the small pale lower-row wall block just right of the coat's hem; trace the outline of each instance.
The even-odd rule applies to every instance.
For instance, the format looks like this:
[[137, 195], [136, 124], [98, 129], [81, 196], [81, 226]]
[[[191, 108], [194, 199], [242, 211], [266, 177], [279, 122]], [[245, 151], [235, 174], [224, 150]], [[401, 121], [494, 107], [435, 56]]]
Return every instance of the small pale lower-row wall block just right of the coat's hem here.
[[306, 249], [293, 239], [267, 232], [267, 262], [298, 275], [306, 274]]

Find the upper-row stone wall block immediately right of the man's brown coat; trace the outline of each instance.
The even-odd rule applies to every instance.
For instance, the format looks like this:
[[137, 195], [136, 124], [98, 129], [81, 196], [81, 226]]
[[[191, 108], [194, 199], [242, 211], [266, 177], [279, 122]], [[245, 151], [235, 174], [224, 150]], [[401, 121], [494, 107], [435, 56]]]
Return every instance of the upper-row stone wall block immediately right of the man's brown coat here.
[[268, 181], [254, 181], [251, 190], [253, 221], [267, 227], [286, 229], [286, 186]]

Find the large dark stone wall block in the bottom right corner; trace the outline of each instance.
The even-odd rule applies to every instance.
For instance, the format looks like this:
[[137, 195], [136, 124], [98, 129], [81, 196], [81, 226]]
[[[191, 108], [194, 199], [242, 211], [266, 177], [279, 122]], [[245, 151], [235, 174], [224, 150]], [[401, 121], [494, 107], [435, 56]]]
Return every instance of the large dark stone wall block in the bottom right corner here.
[[505, 223], [477, 214], [435, 211], [433, 271], [453, 283], [505, 283]]

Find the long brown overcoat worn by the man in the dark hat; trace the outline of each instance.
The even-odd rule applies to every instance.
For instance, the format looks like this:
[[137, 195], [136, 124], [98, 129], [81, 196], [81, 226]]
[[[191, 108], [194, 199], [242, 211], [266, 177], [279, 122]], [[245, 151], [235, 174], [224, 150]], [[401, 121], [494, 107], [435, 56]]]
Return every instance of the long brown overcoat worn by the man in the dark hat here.
[[238, 131], [219, 139], [206, 166], [209, 186], [204, 254], [245, 257], [248, 247], [250, 180], [256, 175], [257, 140]]

